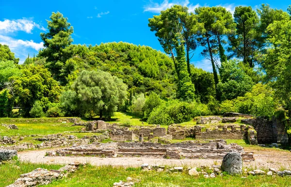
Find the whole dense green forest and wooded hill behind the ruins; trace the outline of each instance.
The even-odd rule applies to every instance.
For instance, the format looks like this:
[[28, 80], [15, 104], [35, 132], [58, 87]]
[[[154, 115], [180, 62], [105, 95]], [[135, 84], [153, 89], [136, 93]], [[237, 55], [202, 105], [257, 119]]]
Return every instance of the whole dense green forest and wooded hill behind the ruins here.
[[[174, 5], [148, 19], [164, 52], [124, 42], [72, 44], [63, 14], [47, 22], [44, 49], [23, 64], [0, 44], [0, 117], [123, 111], [169, 125], [226, 112], [291, 115], [291, 6], [238, 6], [232, 15], [221, 6], [192, 13]], [[191, 63], [199, 47], [212, 72]]]

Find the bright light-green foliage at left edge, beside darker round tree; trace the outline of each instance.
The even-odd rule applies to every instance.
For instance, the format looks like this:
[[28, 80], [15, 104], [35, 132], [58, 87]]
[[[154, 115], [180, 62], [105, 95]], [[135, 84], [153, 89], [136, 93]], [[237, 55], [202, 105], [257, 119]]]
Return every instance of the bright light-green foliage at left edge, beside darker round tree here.
[[[0, 44], [1, 45], [1, 44]], [[21, 70], [16, 67], [12, 60], [0, 61], [0, 90], [7, 87], [9, 77], [20, 76]]]

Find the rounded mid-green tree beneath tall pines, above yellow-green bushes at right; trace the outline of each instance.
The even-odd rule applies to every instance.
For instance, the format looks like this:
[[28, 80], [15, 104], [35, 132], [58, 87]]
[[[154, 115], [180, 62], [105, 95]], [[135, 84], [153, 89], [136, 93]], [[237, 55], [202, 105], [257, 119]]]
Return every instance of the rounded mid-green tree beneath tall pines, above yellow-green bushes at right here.
[[222, 101], [243, 96], [254, 85], [251, 77], [240, 69], [235, 60], [222, 63], [219, 72], [221, 82], [217, 85], [217, 90]]

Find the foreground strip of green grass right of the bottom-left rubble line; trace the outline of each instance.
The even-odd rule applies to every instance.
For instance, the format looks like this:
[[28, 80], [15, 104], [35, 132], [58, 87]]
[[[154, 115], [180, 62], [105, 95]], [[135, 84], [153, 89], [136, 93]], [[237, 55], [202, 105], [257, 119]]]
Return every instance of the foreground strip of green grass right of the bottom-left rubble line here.
[[143, 172], [139, 168], [86, 166], [67, 178], [43, 187], [112, 187], [114, 182], [126, 181], [127, 177], [138, 179], [134, 187], [288, 187], [291, 177], [241, 175], [206, 179], [184, 173]]

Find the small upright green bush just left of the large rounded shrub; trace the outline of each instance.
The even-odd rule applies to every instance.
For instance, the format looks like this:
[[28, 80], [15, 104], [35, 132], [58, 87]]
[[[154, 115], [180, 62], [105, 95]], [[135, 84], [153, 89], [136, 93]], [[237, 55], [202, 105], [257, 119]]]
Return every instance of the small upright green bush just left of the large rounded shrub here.
[[144, 105], [144, 118], [147, 119], [149, 114], [153, 111], [154, 108], [158, 107], [162, 103], [162, 100], [158, 94], [151, 92], [146, 98]]

